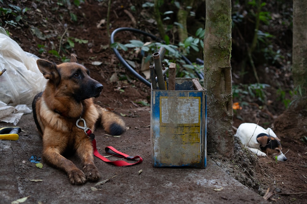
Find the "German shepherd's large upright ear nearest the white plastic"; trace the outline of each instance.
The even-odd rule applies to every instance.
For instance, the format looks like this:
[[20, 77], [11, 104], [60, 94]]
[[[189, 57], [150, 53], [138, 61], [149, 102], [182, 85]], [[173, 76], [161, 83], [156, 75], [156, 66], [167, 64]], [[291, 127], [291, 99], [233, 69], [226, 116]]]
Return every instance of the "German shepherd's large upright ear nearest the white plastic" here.
[[36, 61], [38, 69], [46, 79], [56, 81], [59, 78], [59, 73], [56, 69], [56, 64], [47, 60], [38, 59]]

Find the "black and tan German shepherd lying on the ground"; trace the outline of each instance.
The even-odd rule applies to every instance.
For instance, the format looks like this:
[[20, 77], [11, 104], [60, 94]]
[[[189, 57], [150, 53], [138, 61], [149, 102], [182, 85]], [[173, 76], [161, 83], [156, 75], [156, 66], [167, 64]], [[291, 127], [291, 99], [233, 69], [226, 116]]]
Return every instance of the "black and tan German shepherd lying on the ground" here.
[[[74, 55], [70, 62], [60, 65], [38, 59], [37, 66], [48, 80], [45, 91], [37, 94], [32, 103], [34, 121], [43, 141], [43, 159], [64, 170], [71, 184], [99, 180], [91, 140], [76, 123], [82, 118], [92, 131], [101, 124], [109, 134], [120, 135], [125, 131], [124, 121], [118, 114], [94, 104], [93, 97], [100, 95], [103, 85], [89, 76], [89, 70], [78, 64]], [[66, 151], [75, 152], [83, 163], [83, 171], [62, 156]]]

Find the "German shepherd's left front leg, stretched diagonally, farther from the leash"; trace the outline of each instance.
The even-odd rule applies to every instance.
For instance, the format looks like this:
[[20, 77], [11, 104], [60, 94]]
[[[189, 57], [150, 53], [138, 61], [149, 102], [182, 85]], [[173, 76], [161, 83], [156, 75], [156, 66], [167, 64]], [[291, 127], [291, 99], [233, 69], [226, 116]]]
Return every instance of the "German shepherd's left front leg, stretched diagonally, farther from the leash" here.
[[51, 165], [64, 170], [71, 184], [84, 184], [86, 177], [84, 172], [76, 167], [72, 161], [66, 159], [60, 154], [60, 151], [56, 147], [45, 147], [43, 151], [44, 159]]

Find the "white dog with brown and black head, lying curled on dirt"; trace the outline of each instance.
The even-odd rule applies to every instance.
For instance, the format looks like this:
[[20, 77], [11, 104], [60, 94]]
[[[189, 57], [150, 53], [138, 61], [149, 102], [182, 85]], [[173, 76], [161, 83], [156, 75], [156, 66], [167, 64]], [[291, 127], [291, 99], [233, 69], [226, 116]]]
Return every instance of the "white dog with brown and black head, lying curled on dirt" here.
[[241, 139], [243, 145], [258, 156], [266, 157], [266, 153], [277, 156], [278, 161], [286, 161], [282, 154], [280, 139], [271, 128], [264, 129], [255, 123], [242, 123], [237, 129], [236, 136]]

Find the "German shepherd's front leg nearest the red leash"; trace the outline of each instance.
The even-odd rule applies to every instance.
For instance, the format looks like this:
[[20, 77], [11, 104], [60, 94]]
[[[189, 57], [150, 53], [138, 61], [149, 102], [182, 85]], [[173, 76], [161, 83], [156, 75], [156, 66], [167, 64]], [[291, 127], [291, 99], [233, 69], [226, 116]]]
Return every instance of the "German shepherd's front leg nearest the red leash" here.
[[76, 154], [82, 160], [84, 165], [83, 171], [87, 180], [97, 181], [100, 179], [100, 174], [97, 167], [94, 164], [93, 147], [89, 139], [82, 139], [77, 147]]

